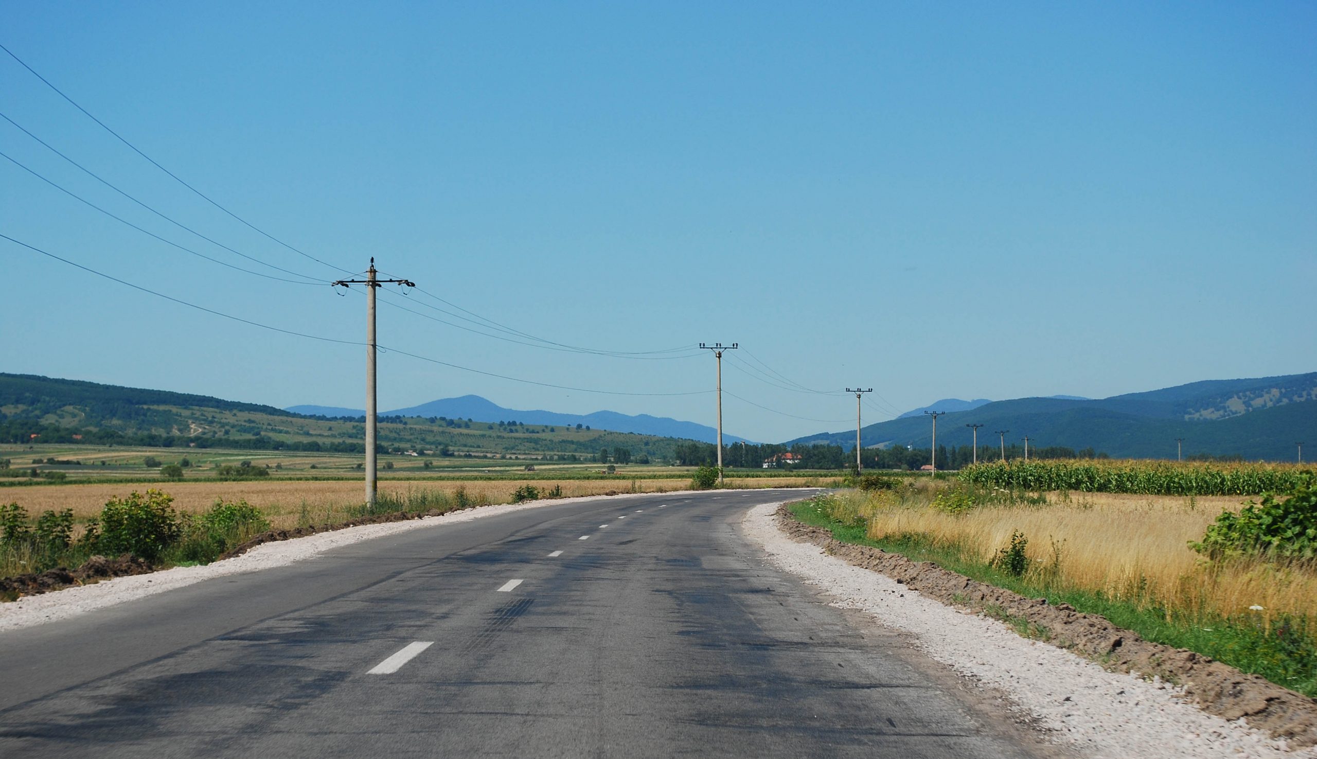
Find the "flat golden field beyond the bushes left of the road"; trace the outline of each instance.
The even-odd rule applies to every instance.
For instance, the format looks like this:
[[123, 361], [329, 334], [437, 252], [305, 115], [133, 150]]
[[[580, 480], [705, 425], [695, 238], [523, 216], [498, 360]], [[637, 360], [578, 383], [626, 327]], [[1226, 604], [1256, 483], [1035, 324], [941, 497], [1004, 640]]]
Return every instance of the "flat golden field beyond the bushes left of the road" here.
[[[686, 480], [516, 480], [516, 481], [460, 481], [423, 480], [400, 481], [381, 480], [379, 492], [391, 495], [406, 495], [408, 492], [445, 492], [452, 495], [458, 488], [477, 502], [507, 503], [512, 492], [523, 485], [531, 485], [541, 493], [554, 486], [562, 489], [564, 497], [602, 495], [608, 493], [665, 493], [684, 490], [690, 486]], [[727, 480], [728, 488], [792, 488], [815, 486], [817, 480], [802, 477], [756, 477], [749, 480]], [[350, 506], [360, 506], [363, 498], [363, 485], [360, 481], [237, 481], [237, 482], [157, 482], [157, 484], [91, 484], [91, 485], [32, 485], [0, 492], [0, 502], [17, 502], [36, 517], [45, 510], [74, 510], [74, 519], [86, 522], [100, 513], [109, 498], [126, 495], [132, 490], [144, 492], [148, 488], [165, 490], [174, 497], [174, 507], [179, 511], [196, 514], [204, 511], [216, 499], [245, 499], [266, 514], [270, 523], [278, 528], [295, 527], [299, 520], [309, 517], [315, 522], [333, 522], [341, 518]]]

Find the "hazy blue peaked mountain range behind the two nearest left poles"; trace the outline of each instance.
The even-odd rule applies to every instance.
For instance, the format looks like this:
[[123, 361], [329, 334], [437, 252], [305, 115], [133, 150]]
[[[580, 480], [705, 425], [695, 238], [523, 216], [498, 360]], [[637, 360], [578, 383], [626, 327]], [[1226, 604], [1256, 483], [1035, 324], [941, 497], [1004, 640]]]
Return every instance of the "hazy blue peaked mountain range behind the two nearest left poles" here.
[[[341, 408], [337, 406], [290, 406], [284, 411], [316, 416], [365, 416], [361, 408]], [[681, 422], [666, 416], [651, 416], [639, 414], [635, 416], [619, 414], [616, 411], [595, 411], [593, 414], [558, 414], [556, 411], [523, 411], [518, 408], [504, 408], [493, 401], [479, 395], [462, 395], [460, 398], [441, 398], [411, 406], [381, 412], [381, 416], [444, 416], [448, 419], [470, 419], [473, 422], [508, 422], [516, 420], [523, 424], [557, 424], [574, 427], [582, 424], [591, 430], [608, 430], [612, 432], [635, 432], [637, 435], [656, 435], [660, 437], [685, 437], [714, 443], [718, 440], [718, 430], [694, 422]], [[740, 443], [743, 437], [723, 432], [723, 443]], [[751, 443], [751, 440], [745, 440]]]

